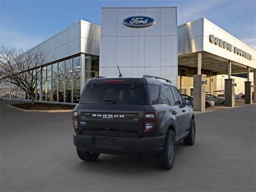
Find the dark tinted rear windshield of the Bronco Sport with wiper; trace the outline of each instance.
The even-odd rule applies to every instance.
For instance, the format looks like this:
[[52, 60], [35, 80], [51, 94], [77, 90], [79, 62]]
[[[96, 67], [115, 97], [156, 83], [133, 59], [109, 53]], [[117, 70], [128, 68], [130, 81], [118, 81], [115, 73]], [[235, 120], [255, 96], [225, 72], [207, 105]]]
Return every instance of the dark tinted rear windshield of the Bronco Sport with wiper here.
[[145, 104], [142, 84], [86, 85], [82, 94], [82, 104]]

